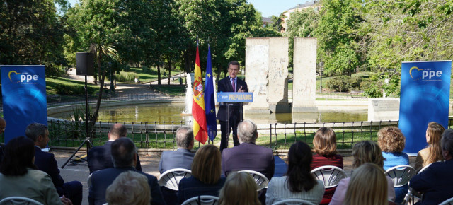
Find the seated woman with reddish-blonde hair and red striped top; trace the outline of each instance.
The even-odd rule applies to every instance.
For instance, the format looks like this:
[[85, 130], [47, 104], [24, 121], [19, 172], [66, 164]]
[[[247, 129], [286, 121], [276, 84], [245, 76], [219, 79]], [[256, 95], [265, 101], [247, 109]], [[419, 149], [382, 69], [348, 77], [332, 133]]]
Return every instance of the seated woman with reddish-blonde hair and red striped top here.
[[[314, 156], [311, 170], [322, 166], [336, 166], [343, 169], [343, 157], [337, 154], [337, 137], [330, 127], [321, 127], [316, 131], [313, 139]], [[331, 202], [336, 187], [327, 188], [321, 204]]]

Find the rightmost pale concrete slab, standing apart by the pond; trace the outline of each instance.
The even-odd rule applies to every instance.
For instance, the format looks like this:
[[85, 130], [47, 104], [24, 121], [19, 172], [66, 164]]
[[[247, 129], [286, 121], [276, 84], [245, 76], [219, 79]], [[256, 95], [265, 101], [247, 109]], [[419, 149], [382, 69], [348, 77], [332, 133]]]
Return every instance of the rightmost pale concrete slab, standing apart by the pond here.
[[316, 38], [294, 37], [292, 112], [317, 112]]

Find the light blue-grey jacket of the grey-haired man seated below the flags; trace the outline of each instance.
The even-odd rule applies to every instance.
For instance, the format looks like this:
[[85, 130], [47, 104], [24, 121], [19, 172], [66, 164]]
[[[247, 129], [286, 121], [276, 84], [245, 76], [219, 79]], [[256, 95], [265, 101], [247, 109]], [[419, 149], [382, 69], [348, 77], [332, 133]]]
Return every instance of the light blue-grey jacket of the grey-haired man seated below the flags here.
[[195, 153], [185, 148], [178, 148], [176, 151], [162, 152], [161, 161], [159, 162], [159, 172], [164, 173], [166, 170], [183, 168], [190, 170]]

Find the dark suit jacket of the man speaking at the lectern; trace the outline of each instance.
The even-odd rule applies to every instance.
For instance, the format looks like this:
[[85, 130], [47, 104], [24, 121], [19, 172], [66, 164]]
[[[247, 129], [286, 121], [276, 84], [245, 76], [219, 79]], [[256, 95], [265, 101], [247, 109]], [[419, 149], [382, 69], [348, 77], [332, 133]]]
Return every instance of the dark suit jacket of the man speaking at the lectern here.
[[[230, 77], [223, 78], [222, 80], [217, 83], [217, 92], [236, 92], [239, 88], [242, 87], [245, 92], [248, 92], [248, 87], [246, 81], [242, 81], [239, 78], [236, 78], [236, 90], [233, 90], [233, 86], [231, 85]], [[229, 106], [227, 109], [226, 105], [219, 106], [219, 112], [217, 113], [217, 119], [221, 121], [228, 121], [229, 117], [233, 115], [233, 112], [239, 116], [239, 113], [243, 114], [242, 104], [240, 102], [230, 103], [232, 105]], [[229, 111], [229, 112], [228, 112]], [[242, 117], [243, 118], [243, 117]]]

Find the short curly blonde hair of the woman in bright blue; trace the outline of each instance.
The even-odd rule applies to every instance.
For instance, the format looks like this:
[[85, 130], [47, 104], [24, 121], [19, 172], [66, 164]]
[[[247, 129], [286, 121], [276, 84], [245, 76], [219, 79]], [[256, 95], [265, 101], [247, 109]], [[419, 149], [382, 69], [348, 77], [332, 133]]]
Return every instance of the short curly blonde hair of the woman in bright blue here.
[[377, 132], [377, 143], [382, 151], [401, 152], [406, 144], [406, 137], [398, 127], [384, 127]]

